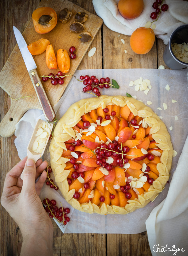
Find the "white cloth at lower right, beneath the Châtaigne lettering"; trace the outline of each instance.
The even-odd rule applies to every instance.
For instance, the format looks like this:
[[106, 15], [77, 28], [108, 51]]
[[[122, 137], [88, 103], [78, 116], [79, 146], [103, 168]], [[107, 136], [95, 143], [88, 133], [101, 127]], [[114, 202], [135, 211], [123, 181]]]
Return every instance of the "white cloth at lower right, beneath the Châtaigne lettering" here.
[[[147, 235], [153, 256], [188, 255], [187, 182], [188, 137], [170, 182], [166, 199], [152, 210], [146, 220]], [[181, 251], [175, 254], [178, 248]]]

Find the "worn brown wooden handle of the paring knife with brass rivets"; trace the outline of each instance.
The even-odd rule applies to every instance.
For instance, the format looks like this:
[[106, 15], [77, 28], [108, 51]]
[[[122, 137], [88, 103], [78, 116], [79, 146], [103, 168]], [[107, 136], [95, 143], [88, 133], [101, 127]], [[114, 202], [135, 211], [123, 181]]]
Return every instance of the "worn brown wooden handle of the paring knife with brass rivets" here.
[[43, 88], [41, 78], [38, 76], [37, 70], [33, 69], [29, 71], [29, 76], [35, 88], [36, 95], [38, 97], [39, 103], [41, 105], [46, 120], [53, 121], [56, 118], [56, 114]]

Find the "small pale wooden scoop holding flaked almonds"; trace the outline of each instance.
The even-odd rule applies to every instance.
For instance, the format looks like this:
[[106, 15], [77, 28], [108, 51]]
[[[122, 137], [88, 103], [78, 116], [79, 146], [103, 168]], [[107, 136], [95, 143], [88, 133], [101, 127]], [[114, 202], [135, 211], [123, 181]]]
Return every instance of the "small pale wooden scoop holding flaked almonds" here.
[[[47, 143], [48, 143], [48, 140], [49, 140], [49, 137], [50, 137], [50, 134], [51, 134], [51, 131], [52, 131], [52, 128], [53, 128], [53, 123], [49, 123], [51, 129], [50, 129], [50, 132], [49, 132], [49, 135], [48, 135], [48, 138], [46, 139], [46, 143], [45, 143], [45, 146], [43, 148], [43, 151], [41, 153], [36, 153], [32, 150], [32, 147], [33, 147], [33, 142], [36, 140], [37, 136], [36, 136], [36, 133], [38, 131], [38, 126], [40, 124], [42, 124], [44, 122], [44, 120], [41, 120], [41, 119], [38, 119], [36, 125], [35, 125], [35, 128], [34, 128], [34, 131], [32, 133], [32, 136], [31, 136], [31, 139], [29, 141], [29, 144], [27, 146], [27, 158], [28, 159], [33, 159], [33, 161], [36, 163], [36, 161], [41, 158], [41, 156], [43, 156], [44, 154], [44, 151], [46, 149], [46, 146], [47, 146]], [[47, 122], [46, 122], [47, 123]], [[20, 176], [21, 180], [23, 180], [23, 177], [24, 177], [24, 170]]]

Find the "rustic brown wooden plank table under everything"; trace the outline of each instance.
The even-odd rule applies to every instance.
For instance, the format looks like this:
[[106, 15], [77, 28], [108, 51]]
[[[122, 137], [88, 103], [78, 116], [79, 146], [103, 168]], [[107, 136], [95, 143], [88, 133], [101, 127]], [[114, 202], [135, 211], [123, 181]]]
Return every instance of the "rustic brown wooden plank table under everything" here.
[[[94, 14], [92, 0], [70, 0]], [[0, 2], [0, 70], [3, 68], [11, 54], [16, 39], [12, 26], [24, 31], [31, 19], [32, 12], [37, 8], [40, 0], [15, 1], [1, 0]], [[120, 36], [118, 36], [120, 35]], [[125, 45], [121, 39], [125, 40]], [[79, 69], [131, 69], [145, 68], [157, 69], [164, 65], [162, 55], [165, 48], [160, 39], [156, 39], [152, 50], [145, 55], [137, 55], [130, 48], [130, 36], [111, 31], [103, 24], [92, 47], [97, 48], [95, 58], [85, 55]], [[127, 54], [123, 53], [124, 49]], [[165, 66], [167, 69], [167, 66]], [[8, 81], [7, 81], [8, 82]], [[0, 88], [0, 113], [1, 120], [9, 110], [11, 101], [8, 95]], [[19, 156], [14, 145], [16, 136], [0, 140], [0, 170], [1, 193], [6, 173], [19, 162]], [[1, 255], [19, 255], [21, 251], [22, 235], [19, 227], [5, 209], [1, 206]], [[140, 234], [63, 234], [52, 220], [53, 254], [55, 255], [151, 255], [147, 232]]]

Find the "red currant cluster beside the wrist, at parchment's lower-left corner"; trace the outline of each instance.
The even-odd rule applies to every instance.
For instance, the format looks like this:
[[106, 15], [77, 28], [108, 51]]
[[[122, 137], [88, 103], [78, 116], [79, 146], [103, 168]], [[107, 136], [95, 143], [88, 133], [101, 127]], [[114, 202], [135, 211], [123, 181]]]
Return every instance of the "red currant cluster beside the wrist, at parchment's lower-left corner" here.
[[44, 198], [43, 204], [47, 205], [45, 210], [49, 213], [50, 218], [55, 218], [58, 222], [63, 222], [63, 226], [70, 221], [70, 218], [67, 217], [67, 214], [70, 213], [70, 209], [63, 207], [58, 208], [55, 199], [49, 200], [48, 198]]

